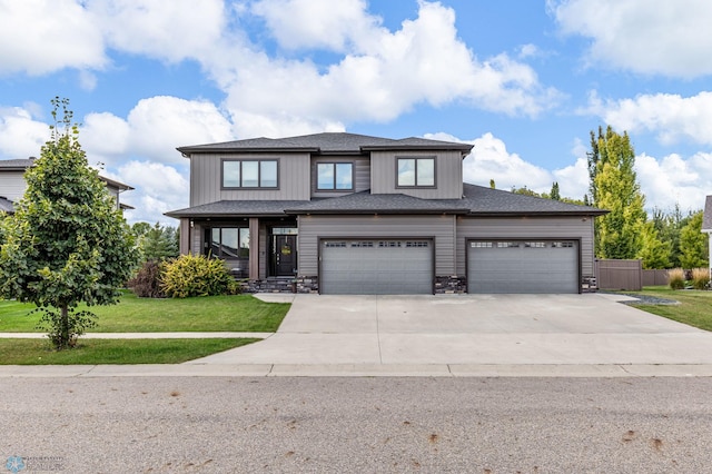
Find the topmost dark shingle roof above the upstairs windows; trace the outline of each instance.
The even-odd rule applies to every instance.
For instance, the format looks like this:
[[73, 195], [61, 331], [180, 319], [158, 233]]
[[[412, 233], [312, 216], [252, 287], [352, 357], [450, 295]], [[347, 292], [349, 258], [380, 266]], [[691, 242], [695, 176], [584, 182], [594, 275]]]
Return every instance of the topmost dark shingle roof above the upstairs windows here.
[[250, 138], [247, 140], [225, 141], [221, 144], [194, 145], [179, 147], [178, 151], [182, 152], [184, 155], [210, 151], [304, 151], [315, 154], [363, 154], [367, 150], [447, 149], [468, 154], [472, 150], [472, 145], [467, 144], [428, 140], [425, 138], [415, 137], [393, 140], [389, 138], [369, 137], [367, 135], [324, 132], [277, 139], [261, 137]]

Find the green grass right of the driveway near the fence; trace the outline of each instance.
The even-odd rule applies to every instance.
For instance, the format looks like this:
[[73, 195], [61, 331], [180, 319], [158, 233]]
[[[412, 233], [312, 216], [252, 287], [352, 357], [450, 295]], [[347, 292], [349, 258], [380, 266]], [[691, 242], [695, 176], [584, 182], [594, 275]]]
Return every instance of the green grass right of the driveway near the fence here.
[[639, 309], [663, 316], [700, 329], [712, 330], [712, 292], [698, 289], [673, 290], [665, 286], [646, 286], [642, 292], [625, 292], [626, 294], [643, 294], [660, 298], [674, 299], [679, 305], [632, 305]]

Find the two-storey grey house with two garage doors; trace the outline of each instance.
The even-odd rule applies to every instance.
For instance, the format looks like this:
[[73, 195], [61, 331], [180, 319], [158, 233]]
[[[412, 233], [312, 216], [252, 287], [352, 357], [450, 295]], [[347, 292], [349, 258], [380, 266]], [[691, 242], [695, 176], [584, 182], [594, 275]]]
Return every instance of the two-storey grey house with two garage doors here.
[[[580, 293], [605, 211], [463, 184], [471, 145], [353, 134], [180, 147], [181, 253], [253, 290]], [[294, 285], [291, 287], [290, 285]]]

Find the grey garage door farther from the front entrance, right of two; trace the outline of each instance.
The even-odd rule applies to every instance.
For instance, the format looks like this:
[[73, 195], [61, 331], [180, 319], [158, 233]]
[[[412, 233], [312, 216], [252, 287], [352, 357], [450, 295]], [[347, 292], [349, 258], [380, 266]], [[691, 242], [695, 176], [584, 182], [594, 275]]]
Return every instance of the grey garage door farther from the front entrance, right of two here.
[[469, 293], [578, 293], [578, 243], [469, 241], [467, 289]]

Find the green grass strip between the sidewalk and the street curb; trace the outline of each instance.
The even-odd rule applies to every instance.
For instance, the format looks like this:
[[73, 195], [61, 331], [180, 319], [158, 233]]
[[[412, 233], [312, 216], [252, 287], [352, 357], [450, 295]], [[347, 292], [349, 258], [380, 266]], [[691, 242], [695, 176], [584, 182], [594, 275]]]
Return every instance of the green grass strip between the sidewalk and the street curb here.
[[79, 339], [53, 350], [48, 339], [0, 339], [0, 365], [180, 364], [259, 339]]

